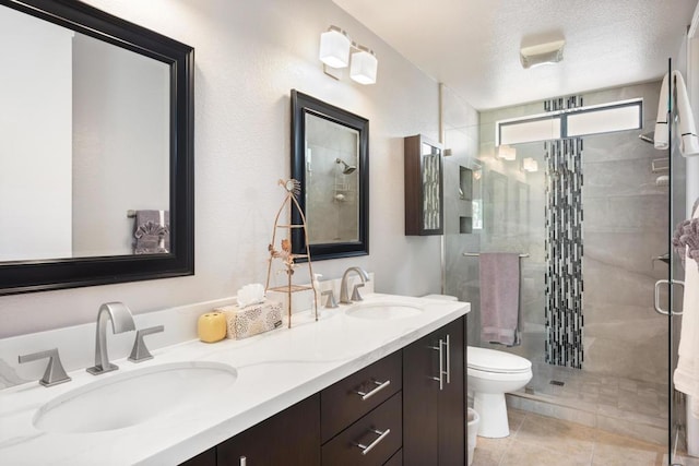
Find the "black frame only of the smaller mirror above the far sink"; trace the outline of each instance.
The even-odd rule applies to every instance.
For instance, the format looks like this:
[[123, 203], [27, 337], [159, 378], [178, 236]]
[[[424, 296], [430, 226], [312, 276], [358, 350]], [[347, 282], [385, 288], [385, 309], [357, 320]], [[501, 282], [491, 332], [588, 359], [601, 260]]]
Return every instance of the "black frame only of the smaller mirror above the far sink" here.
[[[300, 182], [298, 202], [306, 212], [306, 113], [351, 128], [359, 133], [359, 225], [358, 240], [350, 242], [311, 243], [312, 261], [351, 258], [369, 253], [369, 120], [315, 97], [292, 89], [292, 178]], [[292, 211], [292, 224], [300, 224], [300, 215]], [[301, 229], [292, 230], [293, 252], [306, 252], [306, 239]]]

